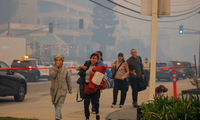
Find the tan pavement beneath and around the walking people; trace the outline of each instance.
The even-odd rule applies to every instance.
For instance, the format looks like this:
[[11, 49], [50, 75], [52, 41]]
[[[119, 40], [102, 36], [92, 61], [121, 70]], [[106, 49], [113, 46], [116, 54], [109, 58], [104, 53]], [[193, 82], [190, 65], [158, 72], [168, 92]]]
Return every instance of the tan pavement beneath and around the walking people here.
[[[78, 76], [72, 76], [72, 94], [67, 94], [65, 103], [62, 107], [63, 119], [69, 120], [81, 120], [84, 119], [84, 108], [83, 102], [76, 102], [76, 92], [78, 90], [78, 85], [76, 80]], [[156, 82], [156, 87], [159, 85], [164, 85], [168, 88], [168, 92], [164, 95], [173, 96], [173, 82], [168, 82], [167, 80], [161, 80]], [[28, 93], [23, 102], [15, 102], [14, 98], [11, 97], [0, 97], [0, 114], [1, 116], [11, 116], [18, 118], [38, 118], [40, 120], [51, 120], [54, 118], [54, 107], [51, 103], [51, 97], [49, 95], [50, 81], [40, 80], [39, 82], [28, 82]], [[191, 85], [189, 79], [180, 79], [177, 81], [177, 94], [181, 94], [182, 90], [194, 89], [195, 87]], [[138, 93], [138, 104], [148, 101], [149, 89]], [[126, 102], [123, 109], [133, 109], [132, 106], [132, 89], [129, 86], [127, 92]], [[103, 90], [100, 97], [100, 115], [101, 119], [105, 119], [109, 113], [112, 113], [121, 108], [111, 108], [113, 97], [113, 89]], [[118, 95], [118, 100], [120, 97], [120, 92]], [[91, 108], [91, 107], [90, 107]], [[91, 114], [91, 119], [95, 119], [95, 115]]]

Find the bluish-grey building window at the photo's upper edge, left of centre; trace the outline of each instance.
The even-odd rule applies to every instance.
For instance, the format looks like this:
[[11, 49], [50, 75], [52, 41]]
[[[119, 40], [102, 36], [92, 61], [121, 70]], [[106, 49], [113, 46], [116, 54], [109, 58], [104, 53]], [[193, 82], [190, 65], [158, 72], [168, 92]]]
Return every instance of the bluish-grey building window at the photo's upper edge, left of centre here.
[[67, 7], [49, 1], [38, 1], [38, 12], [66, 12]]

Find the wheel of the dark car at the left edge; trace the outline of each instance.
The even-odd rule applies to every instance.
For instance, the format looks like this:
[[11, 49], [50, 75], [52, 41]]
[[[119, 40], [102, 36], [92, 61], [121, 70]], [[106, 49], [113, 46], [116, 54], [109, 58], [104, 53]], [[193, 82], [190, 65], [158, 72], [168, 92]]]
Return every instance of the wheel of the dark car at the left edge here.
[[15, 101], [22, 102], [25, 98], [25, 86], [23, 84], [19, 85], [18, 93], [14, 96]]

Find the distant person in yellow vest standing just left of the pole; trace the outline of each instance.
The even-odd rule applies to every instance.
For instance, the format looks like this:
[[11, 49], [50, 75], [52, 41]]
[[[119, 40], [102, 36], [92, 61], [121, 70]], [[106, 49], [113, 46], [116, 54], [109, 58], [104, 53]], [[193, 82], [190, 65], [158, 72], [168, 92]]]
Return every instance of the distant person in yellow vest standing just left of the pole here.
[[145, 58], [145, 62], [143, 63], [143, 67], [144, 69], [144, 75], [146, 77], [147, 80], [147, 86], [149, 86], [149, 79], [150, 79], [150, 63], [148, 62], [148, 58]]

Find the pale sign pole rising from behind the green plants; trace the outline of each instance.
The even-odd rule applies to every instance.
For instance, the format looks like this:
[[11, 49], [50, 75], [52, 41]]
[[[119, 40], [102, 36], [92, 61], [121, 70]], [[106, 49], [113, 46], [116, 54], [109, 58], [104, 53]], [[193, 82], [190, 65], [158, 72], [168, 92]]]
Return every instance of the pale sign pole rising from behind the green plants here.
[[149, 100], [155, 94], [158, 0], [152, 0], [151, 66]]

